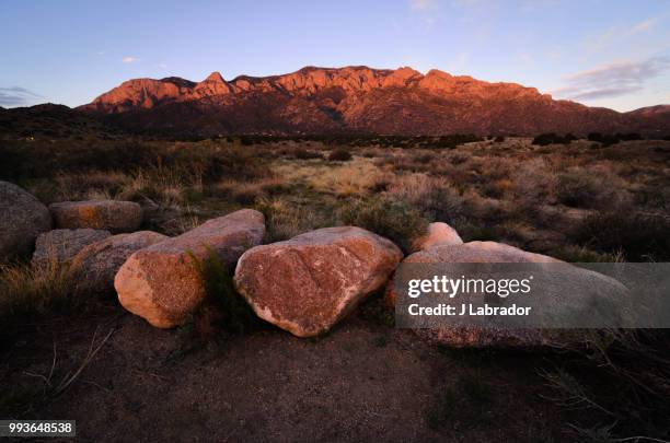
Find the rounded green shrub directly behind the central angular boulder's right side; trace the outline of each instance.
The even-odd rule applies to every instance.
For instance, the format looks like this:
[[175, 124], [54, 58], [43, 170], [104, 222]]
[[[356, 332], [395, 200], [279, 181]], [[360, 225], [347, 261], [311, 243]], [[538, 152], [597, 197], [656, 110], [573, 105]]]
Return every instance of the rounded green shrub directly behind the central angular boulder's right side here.
[[355, 200], [339, 210], [343, 224], [359, 226], [384, 236], [403, 250], [426, 233], [428, 222], [419, 211], [402, 201], [386, 199]]

